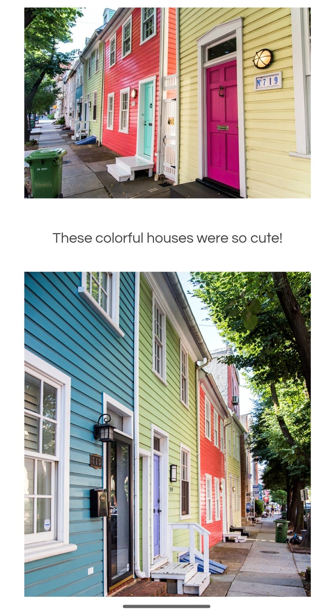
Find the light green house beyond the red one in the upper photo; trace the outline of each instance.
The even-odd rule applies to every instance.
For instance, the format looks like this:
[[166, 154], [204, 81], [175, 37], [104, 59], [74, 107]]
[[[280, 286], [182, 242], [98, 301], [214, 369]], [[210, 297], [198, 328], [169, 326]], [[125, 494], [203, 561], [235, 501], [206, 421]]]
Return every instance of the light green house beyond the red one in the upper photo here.
[[81, 53], [83, 62], [83, 134], [95, 136], [99, 144], [102, 137], [104, 43], [97, 40], [105, 25], [115, 14], [113, 9], [105, 9], [103, 23], [86, 38], [86, 46]]

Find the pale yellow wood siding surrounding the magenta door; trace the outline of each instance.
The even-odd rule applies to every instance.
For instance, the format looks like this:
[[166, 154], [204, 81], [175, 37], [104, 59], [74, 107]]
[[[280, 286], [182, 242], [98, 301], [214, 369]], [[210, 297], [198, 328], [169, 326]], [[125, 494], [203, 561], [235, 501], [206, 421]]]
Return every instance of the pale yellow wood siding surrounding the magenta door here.
[[[243, 18], [245, 156], [248, 197], [310, 197], [310, 160], [296, 150], [289, 8], [181, 8], [179, 182], [198, 177], [197, 39], [215, 26]], [[255, 52], [274, 52], [282, 89], [254, 91]], [[270, 68], [268, 69], [270, 70]]]

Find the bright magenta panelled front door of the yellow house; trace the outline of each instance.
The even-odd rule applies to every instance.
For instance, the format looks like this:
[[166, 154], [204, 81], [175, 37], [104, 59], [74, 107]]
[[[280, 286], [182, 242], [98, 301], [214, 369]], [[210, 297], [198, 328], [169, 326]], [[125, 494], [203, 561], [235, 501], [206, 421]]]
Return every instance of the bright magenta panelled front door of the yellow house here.
[[239, 188], [236, 60], [207, 68], [207, 176]]

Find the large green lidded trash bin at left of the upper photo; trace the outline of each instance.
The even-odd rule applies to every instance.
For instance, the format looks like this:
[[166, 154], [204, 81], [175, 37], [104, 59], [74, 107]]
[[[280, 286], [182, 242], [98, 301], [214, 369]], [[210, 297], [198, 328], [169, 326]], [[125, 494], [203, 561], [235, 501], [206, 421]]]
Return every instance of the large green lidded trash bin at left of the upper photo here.
[[35, 150], [25, 161], [30, 165], [32, 194], [35, 199], [62, 198], [62, 159], [67, 150]]

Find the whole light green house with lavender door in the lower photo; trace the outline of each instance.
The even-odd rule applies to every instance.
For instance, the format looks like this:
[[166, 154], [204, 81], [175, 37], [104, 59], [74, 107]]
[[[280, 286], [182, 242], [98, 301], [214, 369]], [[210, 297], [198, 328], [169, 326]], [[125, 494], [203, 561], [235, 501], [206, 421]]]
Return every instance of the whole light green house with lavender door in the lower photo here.
[[134, 568], [138, 577], [158, 578], [154, 571], [176, 562], [191, 535], [199, 548], [196, 362], [211, 356], [175, 272], [141, 274], [139, 293], [139, 447], [134, 452], [139, 529], [134, 529]]

